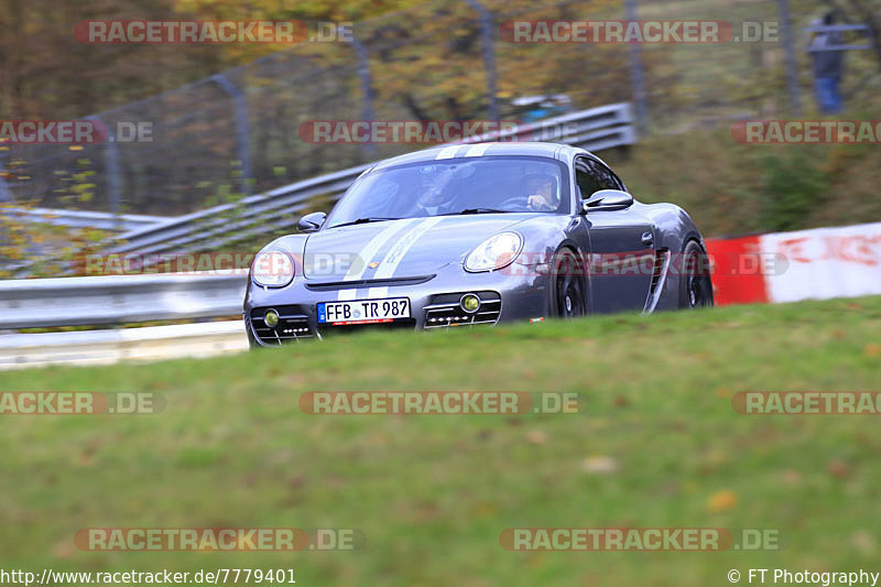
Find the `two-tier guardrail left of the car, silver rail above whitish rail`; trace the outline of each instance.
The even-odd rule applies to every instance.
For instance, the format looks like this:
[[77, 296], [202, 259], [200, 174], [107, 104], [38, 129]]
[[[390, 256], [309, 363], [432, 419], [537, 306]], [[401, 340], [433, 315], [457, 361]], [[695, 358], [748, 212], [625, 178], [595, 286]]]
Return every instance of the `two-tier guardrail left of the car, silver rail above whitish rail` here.
[[0, 370], [246, 350], [241, 319], [61, 333], [2, 330], [238, 316], [247, 279], [244, 271], [227, 271], [0, 281]]

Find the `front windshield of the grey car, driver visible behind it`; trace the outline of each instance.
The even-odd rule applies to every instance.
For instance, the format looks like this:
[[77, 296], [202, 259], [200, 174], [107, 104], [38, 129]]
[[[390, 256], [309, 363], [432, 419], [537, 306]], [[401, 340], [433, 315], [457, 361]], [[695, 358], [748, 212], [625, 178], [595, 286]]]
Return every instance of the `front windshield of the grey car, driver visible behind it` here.
[[329, 228], [457, 214], [568, 214], [566, 167], [547, 157], [428, 161], [361, 176], [330, 213]]

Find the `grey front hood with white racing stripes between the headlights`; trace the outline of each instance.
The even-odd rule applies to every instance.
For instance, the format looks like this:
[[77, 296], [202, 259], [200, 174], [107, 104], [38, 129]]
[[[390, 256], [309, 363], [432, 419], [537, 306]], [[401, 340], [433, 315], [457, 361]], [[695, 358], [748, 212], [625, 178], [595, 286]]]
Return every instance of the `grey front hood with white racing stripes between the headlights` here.
[[323, 229], [306, 240], [304, 274], [319, 281], [428, 275], [534, 216], [436, 216]]

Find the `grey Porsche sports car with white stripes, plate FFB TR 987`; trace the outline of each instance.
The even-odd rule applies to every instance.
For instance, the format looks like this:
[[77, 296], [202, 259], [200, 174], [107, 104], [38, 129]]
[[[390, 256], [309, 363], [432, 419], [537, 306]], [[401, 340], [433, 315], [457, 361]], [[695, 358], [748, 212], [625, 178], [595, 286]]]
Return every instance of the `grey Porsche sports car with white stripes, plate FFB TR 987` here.
[[297, 229], [252, 263], [252, 346], [713, 305], [704, 240], [685, 210], [634, 200], [599, 157], [568, 145], [390, 159]]

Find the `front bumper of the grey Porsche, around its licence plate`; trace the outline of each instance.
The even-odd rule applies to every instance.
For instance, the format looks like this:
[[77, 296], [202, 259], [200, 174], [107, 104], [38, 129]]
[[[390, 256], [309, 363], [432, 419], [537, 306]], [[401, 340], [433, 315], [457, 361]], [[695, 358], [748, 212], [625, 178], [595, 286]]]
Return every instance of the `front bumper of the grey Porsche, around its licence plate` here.
[[[491, 273], [468, 273], [461, 265], [446, 265], [435, 274], [395, 278], [381, 283], [355, 282], [355, 286], [326, 280], [295, 279], [291, 285], [263, 289], [249, 283], [244, 298], [244, 323], [252, 346], [279, 346], [335, 334], [354, 333], [363, 328], [404, 328], [431, 330], [461, 326], [492, 326], [500, 322], [523, 320], [550, 314], [551, 280], [535, 268], [512, 265], [514, 269]], [[355, 300], [409, 297], [411, 318], [378, 325], [331, 326], [318, 324], [317, 305], [336, 302], [340, 291]], [[477, 313], [467, 314], [458, 307], [466, 293], [481, 300]], [[275, 328], [263, 322], [268, 309], [275, 309], [281, 320]]]

